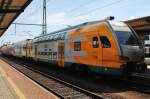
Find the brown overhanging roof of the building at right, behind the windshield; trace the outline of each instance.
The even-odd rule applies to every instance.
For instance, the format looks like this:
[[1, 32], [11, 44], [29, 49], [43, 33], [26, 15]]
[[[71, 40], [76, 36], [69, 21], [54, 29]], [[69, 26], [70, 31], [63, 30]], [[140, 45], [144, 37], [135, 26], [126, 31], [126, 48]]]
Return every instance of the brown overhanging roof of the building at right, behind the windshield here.
[[126, 23], [132, 26], [135, 31], [150, 31], [150, 16], [127, 20]]

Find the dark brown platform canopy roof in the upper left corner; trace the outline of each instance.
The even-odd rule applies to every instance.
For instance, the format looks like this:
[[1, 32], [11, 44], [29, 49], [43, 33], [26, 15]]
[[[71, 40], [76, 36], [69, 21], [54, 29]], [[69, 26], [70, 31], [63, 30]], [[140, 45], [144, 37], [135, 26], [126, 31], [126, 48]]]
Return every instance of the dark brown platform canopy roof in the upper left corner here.
[[0, 0], [0, 36], [32, 0]]

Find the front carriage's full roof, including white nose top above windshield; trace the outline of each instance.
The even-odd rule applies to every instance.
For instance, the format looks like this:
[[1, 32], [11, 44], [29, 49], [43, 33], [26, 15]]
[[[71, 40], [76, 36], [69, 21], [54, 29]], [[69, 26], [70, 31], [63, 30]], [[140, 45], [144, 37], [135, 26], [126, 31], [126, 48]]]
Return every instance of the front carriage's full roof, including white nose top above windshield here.
[[82, 23], [82, 24], [79, 24], [79, 25], [70, 26], [70, 27], [65, 28], [65, 29], [61, 29], [61, 30], [58, 30], [58, 31], [54, 31], [54, 32], [51, 32], [51, 33], [48, 33], [48, 34], [45, 34], [45, 35], [35, 37], [33, 39], [33, 42], [34, 43], [39, 43], [39, 42], [45, 42], [45, 41], [50, 41], [50, 40], [64, 40], [65, 39], [65, 34], [68, 33], [69, 30], [78, 29], [78, 28], [81, 28], [81, 27], [84, 27], [84, 26], [87, 26], [87, 25], [97, 24], [97, 23], [101, 23], [101, 22], [107, 22], [111, 25], [124, 25], [122, 22], [114, 21], [113, 19], [114, 19], [114, 17], [110, 16], [110, 17], [107, 17], [104, 20], [85, 22], [85, 23]]

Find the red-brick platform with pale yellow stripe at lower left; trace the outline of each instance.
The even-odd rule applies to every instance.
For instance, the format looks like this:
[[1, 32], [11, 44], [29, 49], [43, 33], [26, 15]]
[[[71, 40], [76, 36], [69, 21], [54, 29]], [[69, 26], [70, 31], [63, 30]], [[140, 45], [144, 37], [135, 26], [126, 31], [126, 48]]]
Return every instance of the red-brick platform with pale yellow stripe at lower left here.
[[0, 59], [0, 99], [58, 99]]

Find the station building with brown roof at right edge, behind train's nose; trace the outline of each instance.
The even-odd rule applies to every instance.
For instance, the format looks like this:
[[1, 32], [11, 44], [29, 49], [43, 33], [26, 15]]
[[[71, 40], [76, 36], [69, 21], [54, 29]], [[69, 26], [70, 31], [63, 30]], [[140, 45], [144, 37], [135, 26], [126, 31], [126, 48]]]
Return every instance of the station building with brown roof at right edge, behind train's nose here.
[[127, 20], [126, 23], [139, 35], [145, 46], [145, 55], [150, 57], [150, 16]]

